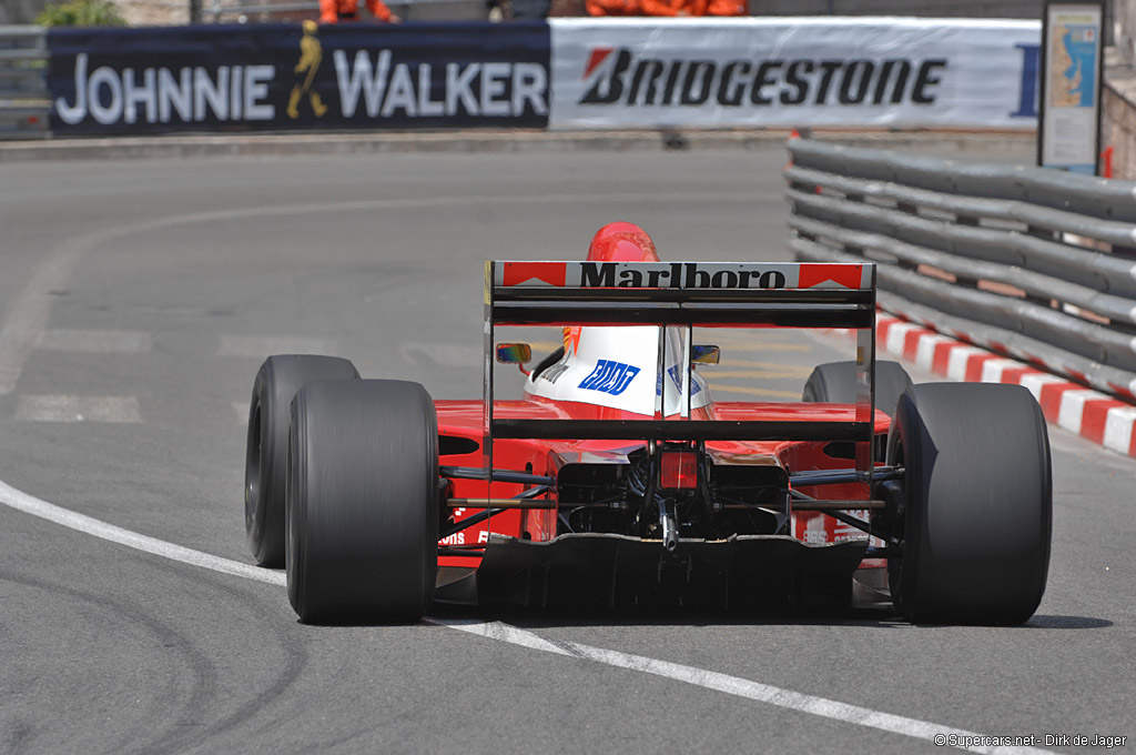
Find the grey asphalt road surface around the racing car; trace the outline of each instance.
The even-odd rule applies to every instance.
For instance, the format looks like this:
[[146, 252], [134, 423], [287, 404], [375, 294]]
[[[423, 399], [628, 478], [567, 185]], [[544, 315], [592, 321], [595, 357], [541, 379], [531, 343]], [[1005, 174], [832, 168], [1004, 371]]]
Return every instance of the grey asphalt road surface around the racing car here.
[[[321, 628], [278, 572], [223, 573], [251, 564], [242, 415], [264, 356], [477, 397], [483, 259], [578, 258], [612, 219], [669, 259], [786, 259], [784, 160], [0, 165], [0, 752], [930, 753], [958, 731], [1131, 748], [1136, 462], [1056, 429], [1049, 589], [1019, 628], [485, 609], [433, 616], [471, 631]], [[842, 346], [751, 358], [793, 391]], [[149, 551], [106, 539], [130, 533]]]

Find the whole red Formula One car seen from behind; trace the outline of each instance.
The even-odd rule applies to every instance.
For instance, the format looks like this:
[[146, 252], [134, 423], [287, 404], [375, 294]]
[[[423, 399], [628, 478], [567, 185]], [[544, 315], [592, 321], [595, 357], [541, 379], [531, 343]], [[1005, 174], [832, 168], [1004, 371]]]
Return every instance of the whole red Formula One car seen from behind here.
[[[662, 263], [617, 223], [585, 262], [485, 275], [482, 400], [334, 357], [260, 368], [245, 524], [303, 621], [417, 621], [434, 600], [847, 605], [854, 586], [912, 621], [1036, 609], [1041, 409], [1020, 387], [877, 364], [872, 265]], [[550, 325], [562, 347], [532, 370], [527, 343], [498, 341]], [[816, 367], [801, 401], [713, 399], [722, 349], [698, 338], [802, 327], [854, 330], [857, 359]], [[495, 362], [521, 366], [519, 398], [495, 398]]]

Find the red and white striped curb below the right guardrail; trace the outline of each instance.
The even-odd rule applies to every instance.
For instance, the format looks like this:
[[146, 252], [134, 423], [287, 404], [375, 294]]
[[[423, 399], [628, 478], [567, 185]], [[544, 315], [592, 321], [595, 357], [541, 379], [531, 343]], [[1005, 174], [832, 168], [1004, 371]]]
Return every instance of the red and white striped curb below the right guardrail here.
[[1118, 454], [1136, 457], [1136, 406], [897, 317], [876, 321], [877, 348], [950, 380], [1022, 385], [1045, 418]]

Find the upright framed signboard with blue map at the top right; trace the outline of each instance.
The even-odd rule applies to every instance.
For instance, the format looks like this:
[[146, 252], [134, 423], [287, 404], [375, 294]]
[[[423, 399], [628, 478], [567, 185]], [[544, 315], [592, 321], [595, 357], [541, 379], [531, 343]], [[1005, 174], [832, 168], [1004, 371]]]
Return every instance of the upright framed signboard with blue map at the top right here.
[[1101, 152], [1104, 5], [1046, 2], [1041, 55], [1037, 164], [1096, 174]]

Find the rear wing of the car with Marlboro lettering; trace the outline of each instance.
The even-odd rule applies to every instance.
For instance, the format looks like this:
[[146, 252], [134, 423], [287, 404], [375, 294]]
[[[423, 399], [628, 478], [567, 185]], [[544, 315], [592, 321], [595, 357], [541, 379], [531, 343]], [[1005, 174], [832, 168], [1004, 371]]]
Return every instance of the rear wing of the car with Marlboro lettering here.
[[[866, 442], [875, 416], [876, 266], [794, 263], [486, 262], [484, 434], [599, 440], [809, 440]], [[493, 416], [498, 325], [678, 325], [855, 329], [855, 422], [499, 420]], [[660, 330], [661, 333], [661, 330]], [[660, 374], [662, 347], [660, 337]], [[686, 339], [684, 372], [690, 372]], [[688, 381], [686, 387], [690, 401]], [[687, 414], [688, 416], [688, 414]], [[862, 451], [862, 453], [861, 453]]]

